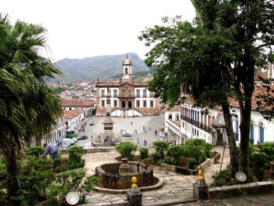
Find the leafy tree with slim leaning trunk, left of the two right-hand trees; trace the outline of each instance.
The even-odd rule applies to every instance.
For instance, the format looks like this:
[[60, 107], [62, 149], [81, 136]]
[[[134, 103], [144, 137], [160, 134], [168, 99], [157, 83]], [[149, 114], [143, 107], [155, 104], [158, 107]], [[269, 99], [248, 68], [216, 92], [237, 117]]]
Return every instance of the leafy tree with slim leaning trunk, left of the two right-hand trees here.
[[197, 106], [213, 107], [221, 104], [232, 169], [236, 172], [238, 152], [227, 102], [227, 93], [230, 91], [227, 76], [232, 58], [229, 31], [210, 32], [201, 25], [195, 27], [179, 19], [169, 21], [165, 18], [164, 22], [168, 25], [149, 28], [140, 36], [148, 42], [147, 45], [157, 42], [146, 59], [147, 64], [160, 63], [160, 68], [149, 83], [149, 89], [168, 104], [183, 102], [182, 94], [190, 95]]

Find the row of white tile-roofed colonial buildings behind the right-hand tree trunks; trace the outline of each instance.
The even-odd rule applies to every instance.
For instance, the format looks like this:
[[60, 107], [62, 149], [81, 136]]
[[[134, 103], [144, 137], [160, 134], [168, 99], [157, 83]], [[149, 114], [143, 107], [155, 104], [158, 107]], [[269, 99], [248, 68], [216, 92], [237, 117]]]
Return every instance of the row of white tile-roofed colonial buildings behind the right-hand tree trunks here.
[[[274, 65], [269, 63], [266, 71], [256, 73], [264, 79], [271, 82], [271, 87], [274, 89]], [[256, 96], [264, 89], [260, 87], [262, 82], [256, 82], [258, 87], [253, 91], [252, 104], [251, 104], [251, 124], [249, 139], [252, 144], [258, 144], [265, 141], [274, 141], [274, 119], [266, 120], [257, 110]], [[229, 100], [232, 117], [232, 124], [234, 129], [234, 137], [236, 144], [240, 144], [240, 108], [238, 102], [230, 98]], [[177, 115], [180, 114], [179, 123], [177, 122]], [[165, 132], [168, 141], [176, 144], [181, 144], [186, 139], [201, 138], [214, 145], [223, 145], [226, 141], [227, 134], [225, 131], [225, 122], [223, 113], [218, 109], [208, 109], [204, 113], [203, 108], [197, 108], [193, 102], [188, 99], [184, 104], [181, 104], [180, 109], [166, 111], [165, 113]]]

